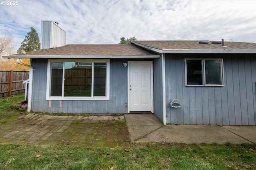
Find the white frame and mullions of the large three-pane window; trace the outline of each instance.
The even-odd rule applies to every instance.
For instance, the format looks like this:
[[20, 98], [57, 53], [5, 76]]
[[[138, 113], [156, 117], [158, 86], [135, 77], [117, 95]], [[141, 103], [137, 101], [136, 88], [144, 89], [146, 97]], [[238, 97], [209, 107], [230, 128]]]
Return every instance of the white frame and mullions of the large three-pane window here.
[[[93, 96], [93, 97], [64, 97], [63, 90], [62, 96], [50, 96], [50, 84], [51, 84], [51, 63], [61, 63], [61, 62], [106, 62], [106, 96]], [[93, 65], [93, 64], [92, 64]], [[65, 67], [63, 67], [65, 69]], [[92, 72], [92, 82], [93, 82], [93, 72]], [[64, 72], [63, 72], [64, 77]], [[64, 82], [62, 83], [62, 88], [64, 89]], [[92, 86], [93, 93], [93, 86]], [[49, 59], [47, 64], [47, 83], [46, 83], [46, 100], [110, 100], [110, 59]]]

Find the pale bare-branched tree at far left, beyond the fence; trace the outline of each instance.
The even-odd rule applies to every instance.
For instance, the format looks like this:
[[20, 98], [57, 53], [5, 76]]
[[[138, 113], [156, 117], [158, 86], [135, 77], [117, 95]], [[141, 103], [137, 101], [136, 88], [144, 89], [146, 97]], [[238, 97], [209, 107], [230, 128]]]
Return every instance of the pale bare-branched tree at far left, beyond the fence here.
[[12, 35], [1, 35], [0, 55], [12, 55], [15, 52], [15, 44]]

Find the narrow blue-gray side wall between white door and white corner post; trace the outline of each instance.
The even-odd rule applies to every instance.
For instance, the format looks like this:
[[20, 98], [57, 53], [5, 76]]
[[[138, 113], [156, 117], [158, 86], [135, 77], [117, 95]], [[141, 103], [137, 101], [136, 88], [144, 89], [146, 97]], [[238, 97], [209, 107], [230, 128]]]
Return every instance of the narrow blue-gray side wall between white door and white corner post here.
[[163, 120], [162, 56], [153, 61], [154, 114]]

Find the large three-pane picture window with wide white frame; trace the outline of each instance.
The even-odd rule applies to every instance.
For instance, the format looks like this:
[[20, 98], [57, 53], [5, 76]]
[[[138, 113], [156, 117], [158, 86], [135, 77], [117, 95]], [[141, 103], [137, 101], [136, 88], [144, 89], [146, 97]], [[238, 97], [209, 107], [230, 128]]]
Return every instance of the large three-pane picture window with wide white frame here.
[[109, 60], [49, 60], [46, 90], [46, 100], [109, 100]]

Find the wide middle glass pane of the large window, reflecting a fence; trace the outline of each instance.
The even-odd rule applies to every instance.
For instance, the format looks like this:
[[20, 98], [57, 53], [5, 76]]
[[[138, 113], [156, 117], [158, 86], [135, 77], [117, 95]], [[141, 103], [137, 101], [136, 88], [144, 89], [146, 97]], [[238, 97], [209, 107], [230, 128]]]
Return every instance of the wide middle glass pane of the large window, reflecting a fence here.
[[65, 62], [64, 96], [92, 96], [92, 63]]

